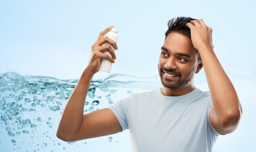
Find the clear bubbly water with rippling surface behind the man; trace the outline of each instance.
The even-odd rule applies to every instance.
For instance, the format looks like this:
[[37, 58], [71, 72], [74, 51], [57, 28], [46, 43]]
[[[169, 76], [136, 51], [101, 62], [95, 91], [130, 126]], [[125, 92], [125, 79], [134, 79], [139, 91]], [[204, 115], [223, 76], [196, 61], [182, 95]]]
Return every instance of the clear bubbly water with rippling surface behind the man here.
[[[252, 90], [255, 90], [254, 75], [230, 73], [229, 77], [232, 82], [249, 80], [254, 87]], [[53, 152], [76, 145], [76, 142], [67, 142], [65, 145], [64, 141], [57, 139], [56, 127], [65, 102], [77, 82], [78, 80], [60, 80], [54, 77], [22, 76], [18, 73], [0, 74], [0, 145], [3, 145], [0, 150]], [[205, 86], [206, 83], [204, 73], [196, 75], [195, 84]], [[92, 80], [84, 104], [84, 114], [106, 108], [113, 101], [134, 93], [159, 87], [162, 87], [159, 75], [145, 78], [114, 73], [103, 80]], [[111, 135], [106, 141], [121, 141], [116, 139]], [[89, 142], [83, 143], [90, 145]]]

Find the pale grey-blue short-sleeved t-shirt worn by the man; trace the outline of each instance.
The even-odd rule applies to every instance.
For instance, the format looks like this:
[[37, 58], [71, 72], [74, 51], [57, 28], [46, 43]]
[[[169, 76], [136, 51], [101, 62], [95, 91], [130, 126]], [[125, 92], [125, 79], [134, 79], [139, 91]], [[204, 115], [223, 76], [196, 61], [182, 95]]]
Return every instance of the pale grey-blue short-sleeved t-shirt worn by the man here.
[[132, 152], [211, 152], [220, 135], [209, 123], [212, 107], [208, 91], [195, 88], [171, 97], [158, 88], [136, 93], [108, 108], [122, 131], [130, 130]]

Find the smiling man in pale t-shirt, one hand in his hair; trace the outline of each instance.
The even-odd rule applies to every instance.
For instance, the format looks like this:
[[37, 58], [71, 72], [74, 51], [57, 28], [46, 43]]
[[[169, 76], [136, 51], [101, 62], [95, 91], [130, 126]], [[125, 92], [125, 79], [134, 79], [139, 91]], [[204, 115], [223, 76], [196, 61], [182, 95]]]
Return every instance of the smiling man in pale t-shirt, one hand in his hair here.
[[[236, 130], [242, 107], [212, 44], [212, 29], [203, 20], [178, 17], [168, 22], [158, 70], [162, 88], [136, 93], [108, 108], [83, 115], [85, 97], [101, 58], [115, 62], [102, 31], [92, 56], [62, 112], [57, 137], [63, 141], [106, 136], [130, 130], [134, 152], [211, 152], [220, 134]], [[111, 54], [102, 52], [108, 50]], [[209, 92], [195, 88], [193, 79], [204, 65]]]

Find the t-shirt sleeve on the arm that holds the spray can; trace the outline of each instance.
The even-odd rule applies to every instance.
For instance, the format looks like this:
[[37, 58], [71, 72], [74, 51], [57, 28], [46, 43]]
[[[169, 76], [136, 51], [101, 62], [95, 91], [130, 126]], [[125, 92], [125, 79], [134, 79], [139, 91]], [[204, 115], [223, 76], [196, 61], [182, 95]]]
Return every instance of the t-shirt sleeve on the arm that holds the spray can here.
[[132, 95], [130, 97], [121, 99], [108, 107], [110, 110], [112, 110], [115, 113], [120, 125], [122, 126], [122, 132], [126, 129], [129, 129], [128, 123], [127, 123], [127, 112], [128, 112], [130, 103], [134, 99], [135, 99], [135, 95]]

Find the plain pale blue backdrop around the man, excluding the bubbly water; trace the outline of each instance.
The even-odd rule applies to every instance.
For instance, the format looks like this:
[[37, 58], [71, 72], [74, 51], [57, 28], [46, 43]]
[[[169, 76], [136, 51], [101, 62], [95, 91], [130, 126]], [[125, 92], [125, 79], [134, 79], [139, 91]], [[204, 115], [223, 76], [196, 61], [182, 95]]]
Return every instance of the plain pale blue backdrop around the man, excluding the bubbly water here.
[[[168, 20], [188, 16], [213, 29], [214, 51], [222, 67], [228, 75], [239, 75], [236, 89], [245, 85], [238, 96], [246, 97], [241, 104], [249, 115], [242, 122], [254, 125], [249, 107], [255, 106], [250, 93], [256, 90], [255, 6], [249, 0], [1, 0], [0, 73], [79, 79], [99, 33], [114, 25], [119, 50], [111, 73], [150, 77], [158, 74]], [[108, 75], [99, 71], [93, 79]], [[240, 126], [219, 137], [213, 151], [253, 151], [255, 131]]]

